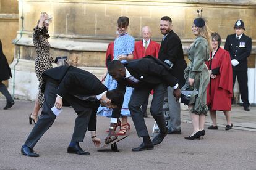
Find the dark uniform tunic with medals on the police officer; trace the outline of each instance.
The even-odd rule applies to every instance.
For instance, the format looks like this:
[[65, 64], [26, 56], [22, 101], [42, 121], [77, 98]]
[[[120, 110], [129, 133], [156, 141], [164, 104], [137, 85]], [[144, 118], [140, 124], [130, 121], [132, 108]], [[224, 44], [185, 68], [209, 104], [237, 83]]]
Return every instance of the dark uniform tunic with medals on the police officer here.
[[236, 39], [236, 34], [228, 35], [226, 38], [224, 49], [229, 52], [231, 60], [236, 59], [239, 65], [232, 66], [236, 71], [247, 71], [247, 57], [252, 51], [252, 38], [242, 34], [239, 40]]

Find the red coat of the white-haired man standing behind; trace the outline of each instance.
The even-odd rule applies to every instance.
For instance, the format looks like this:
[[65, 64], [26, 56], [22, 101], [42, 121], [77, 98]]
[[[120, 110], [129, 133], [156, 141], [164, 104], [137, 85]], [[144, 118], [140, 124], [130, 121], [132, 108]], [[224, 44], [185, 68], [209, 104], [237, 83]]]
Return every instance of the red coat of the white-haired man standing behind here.
[[147, 47], [147, 50], [145, 50], [143, 46], [143, 41], [137, 41], [135, 42], [135, 46], [134, 46], [134, 59], [140, 59], [147, 55], [151, 55], [153, 57], [158, 58], [159, 49], [160, 49], [160, 44], [158, 44], [155, 41], [152, 41], [151, 39], [150, 39], [150, 44]]

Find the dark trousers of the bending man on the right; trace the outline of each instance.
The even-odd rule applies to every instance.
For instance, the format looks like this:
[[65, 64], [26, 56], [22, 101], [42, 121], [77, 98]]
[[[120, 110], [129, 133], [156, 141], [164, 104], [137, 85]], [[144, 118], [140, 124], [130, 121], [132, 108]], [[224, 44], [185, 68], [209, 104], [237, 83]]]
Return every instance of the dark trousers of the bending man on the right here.
[[[155, 86], [154, 95], [151, 102], [150, 112], [161, 132], [166, 130], [165, 118], [163, 115], [164, 94], [166, 93], [166, 84], [158, 84]], [[151, 88], [141, 87], [135, 88], [132, 92], [129, 102], [129, 110], [134, 121], [134, 126], [139, 137], [148, 136], [147, 126], [143, 118], [143, 112], [140, 106], [148, 99]]]

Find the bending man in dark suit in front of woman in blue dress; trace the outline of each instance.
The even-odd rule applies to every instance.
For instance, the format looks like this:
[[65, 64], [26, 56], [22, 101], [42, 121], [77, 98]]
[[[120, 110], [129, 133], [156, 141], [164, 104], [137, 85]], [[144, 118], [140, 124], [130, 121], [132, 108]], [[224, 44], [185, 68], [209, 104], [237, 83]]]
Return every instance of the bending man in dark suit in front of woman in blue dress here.
[[[108, 73], [113, 79], [116, 79], [119, 91], [126, 91], [126, 86], [134, 87], [128, 106], [137, 134], [139, 137], [143, 137], [143, 142], [139, 147], [133, 148], [132, 151], [152, 150], [154, 145], [160, 144], [167, 134], [163, 115], [163, 101], [166, 88], [168, 86], [173, 87], [173, 95], [176, 97], [176, 100], [179, 100], [181, 97], [177, 79], [172, 75], [169, 67], [152, 56], [131, 60], [124, 64], [118, 60], [113, 60], [108, 65]], [[158, 124], [160, 133], [151, 141], [140, 106], [147, 100], [148, 93], [152, 89], [154, 90], [154, 95], [150, 112]], [[120, 115], [118, 113], [120, 113], [118, 109], [114, 109], [112, 118], [119, 118]], [[114, 135], [113, 126], [114, 123], [111, 123], [106, 140], [111, 135]]]

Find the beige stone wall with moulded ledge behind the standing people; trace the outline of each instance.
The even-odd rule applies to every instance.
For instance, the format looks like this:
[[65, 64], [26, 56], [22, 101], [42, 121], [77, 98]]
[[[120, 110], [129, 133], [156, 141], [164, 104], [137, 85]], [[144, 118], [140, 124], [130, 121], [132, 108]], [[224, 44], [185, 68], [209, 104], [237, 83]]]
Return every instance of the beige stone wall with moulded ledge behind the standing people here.
[[[19, 31], [14, 41], [14, 62], [23, 60], [23, 63], [27, 61], [33, 65], [35, 49], [32, 33], [40, 12], [53, 15], [53, 22], [49, 26], [53, 57], [67, 55], [69, 62], [77, 67], [105, 66], [106, 47], [110, 41], [114, 41], [116, 20], [121, 15], [130, 18], [129, 34], [136, 40], [141, 38], [141, 28], [147, 25], [153, 31], [153, 39], [158, 42], [162, 38], [160, 18], [168, 15], [173, 19], [173, 30], [180, 36], [186, 55], [187, 47], [194, 41], [190, 28], [197, 17], [197, 9], [201, 8], [211, 30], [220, 33], [223, 40], [228, 34], [234, 33], [233, 26], [237, 19], [244, 20], [245, 34], [253, 39], [249, 67], [255, 68], [255, 0], [19, 0]], [[23, 66], [17, 64], [15, 67]]]

